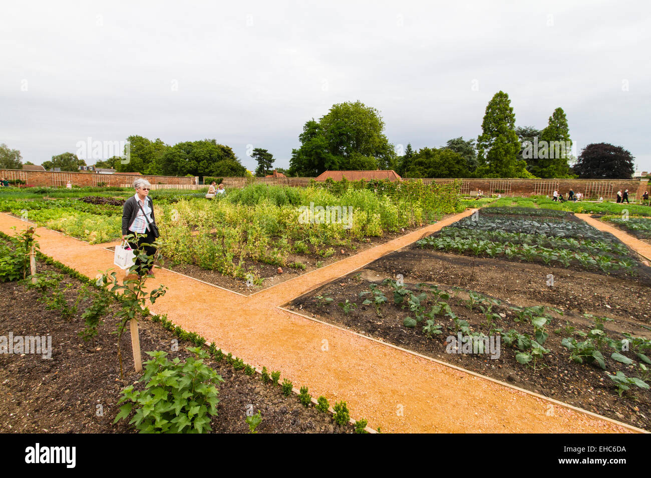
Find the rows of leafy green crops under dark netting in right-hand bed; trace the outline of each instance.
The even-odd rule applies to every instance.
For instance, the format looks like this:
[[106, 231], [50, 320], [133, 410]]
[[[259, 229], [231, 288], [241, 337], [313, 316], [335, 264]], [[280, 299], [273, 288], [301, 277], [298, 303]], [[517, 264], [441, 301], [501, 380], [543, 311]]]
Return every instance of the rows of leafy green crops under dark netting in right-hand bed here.
[[606, 273], [637, 274], [639, 267], [615, 236], [568, 213], [546, 209], [482, 208], [421, 239], [418, 245], [475, 256], [574, 265]]

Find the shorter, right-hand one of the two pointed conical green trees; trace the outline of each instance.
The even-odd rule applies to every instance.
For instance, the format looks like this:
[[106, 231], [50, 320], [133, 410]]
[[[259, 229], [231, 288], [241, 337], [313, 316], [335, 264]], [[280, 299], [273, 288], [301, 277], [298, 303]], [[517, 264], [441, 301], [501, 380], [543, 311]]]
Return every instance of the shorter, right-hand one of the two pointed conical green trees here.
[[540, 133], [537, 159], [530, 171], [539, 178], [568, 178], [572, 140], [565, 112], [557, 108], [549, 116], [547, 127]]

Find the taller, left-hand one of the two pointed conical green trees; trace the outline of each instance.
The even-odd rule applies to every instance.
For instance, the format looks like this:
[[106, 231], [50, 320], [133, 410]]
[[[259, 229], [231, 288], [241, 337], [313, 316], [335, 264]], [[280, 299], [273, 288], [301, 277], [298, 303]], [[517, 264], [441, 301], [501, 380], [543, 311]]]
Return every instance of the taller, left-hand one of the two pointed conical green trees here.
[[532, 177], [527, 171], [527, 163], [518, 157], [520, 142], [515, 124], [516, 115], [508, 94], [503, 91], [495, 93], [486, 106], [482, 134], [477, 138], [477, 177]]

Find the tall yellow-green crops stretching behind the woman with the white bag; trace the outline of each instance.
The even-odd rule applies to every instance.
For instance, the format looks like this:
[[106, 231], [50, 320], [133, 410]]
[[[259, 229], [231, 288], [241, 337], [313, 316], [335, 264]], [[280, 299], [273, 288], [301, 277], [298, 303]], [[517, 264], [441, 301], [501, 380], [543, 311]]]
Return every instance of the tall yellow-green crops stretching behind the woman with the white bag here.
[[[463, 209], [454, 184], [415, 183], [404, 191], [344, 186], [250, 185], [212, 201], [204, 193], [152, 191], [160, 250], [173, 265], [246, 278], [252, 269], [247, 261], [305, 269], [305, 255], [328, 258], [335, 248], [354, 248], [356, 240], [418, 227]], [[0, 210], [91, 244], [119, 239], [122, 204], [132, 190], [86, 189], [70, 191], [71, 197], [49, 189], [37, 197], [23, 192], [24, 198], [2, 191]]]

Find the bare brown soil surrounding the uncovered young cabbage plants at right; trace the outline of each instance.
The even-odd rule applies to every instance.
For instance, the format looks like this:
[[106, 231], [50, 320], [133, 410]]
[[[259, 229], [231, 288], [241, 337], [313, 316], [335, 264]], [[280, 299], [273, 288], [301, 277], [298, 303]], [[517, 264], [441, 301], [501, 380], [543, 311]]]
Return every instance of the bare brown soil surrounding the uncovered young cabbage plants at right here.
[[[418, 288], [416, 284], [422, 282], [449, 291], [448, 302], [453, 312], [466, 320], [473, 330], [486, 334], [486, 317], [477, 306], [469, 310], [463, 302], [469, 298], [468, 291], [502, 301], [493, 312], [503, 314], [495, 326], [504, 332], [514, 328], [533, 336], [533, 326], [516, 322], [516, 314], [508, 306], [557, 309], [559, 312], [550, 312], [553, 319], [547, 325], [549, 338], [544, 347], [549, 353], [538, 362], [535, 371], [531, 366], [519, 364], [515, 359], [518, 349], [506, 347], [504, 342], [495, 360], [487, 354], [447, 353], [447, 336], [456, 336], [454, 323], [448, 317], [437, 317], [442, 334], [432, 338], [422, 332], [422, 322], [415, 328], [404, 326], [409, 309], [394, 304], [391, 285], [380, 285], [387, 278], [395, 280], [396, 274], [402, 274], [405, 286], [413, 291]], [[547, 274], [553, 274], [551, 287], [547, 285]], [[379, 308], [380, 315], [372, 304], [362, 305], [363, 300], [372, 295], [359, 297], [359, 293], [368, 291], [370, 284], [379, 285], [388, 298]], [[575, 332], [587, 332], [592, 328], [592, 320], [584, 317], [584, 313], [613, 319], [605, 323], [605, 332], [613, 339], [624, 338], [622, 332], [651, 338], [650, 285], [646, 274], [618, 278], [551, 265], [459, 256], [411, 245], [299, 297], [290, 302], [288, 308], [651, 431], [651, 393], [631, 386], [631, 390], [620, 398], [614, 383], [607, 377], [607, 372], [615, 374], [615, 371], [638, 376], [635, 354], [622, 352], [634, 360], [633, 365], [624, 365], [611, 360], [613, 350], [605, 347], [604, 371], [596, 365], [573, 362], [570, 351], [561, 345], [563, 338], [574, 336], [581, 340]], [[333, 301], [326, 303], [324, 297]], [[357, 304], [348, 315], [338, 305], [346, 300]]]

